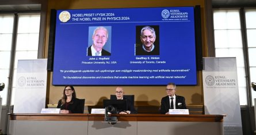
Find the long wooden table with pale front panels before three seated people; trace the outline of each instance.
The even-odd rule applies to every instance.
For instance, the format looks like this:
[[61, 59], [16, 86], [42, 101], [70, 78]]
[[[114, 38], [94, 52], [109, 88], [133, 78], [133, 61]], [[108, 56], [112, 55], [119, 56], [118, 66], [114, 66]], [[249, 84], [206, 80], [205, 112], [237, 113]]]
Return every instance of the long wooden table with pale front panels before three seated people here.
[[224, 115], [116, 114], [119, 122], [104, 122], [103, 114], [9, 114], [9, 134], [223, 134]]

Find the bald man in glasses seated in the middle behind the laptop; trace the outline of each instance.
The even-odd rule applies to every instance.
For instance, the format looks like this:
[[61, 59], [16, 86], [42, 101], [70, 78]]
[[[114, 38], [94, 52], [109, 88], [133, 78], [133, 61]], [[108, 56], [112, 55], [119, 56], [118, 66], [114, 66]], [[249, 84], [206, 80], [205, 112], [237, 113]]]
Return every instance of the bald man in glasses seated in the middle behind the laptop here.
[[132, 105], [132, 101], [130, 101], [127, 98], [124, 98], [124, 90], [122, 87], [117, 87], [116, 88], [116, 99], [124, 99], [127, 100], [127, 110], [126, 111], [121, 111], [119, 114], [136, 114], [137, 111], [135, 110], [134, 106]]

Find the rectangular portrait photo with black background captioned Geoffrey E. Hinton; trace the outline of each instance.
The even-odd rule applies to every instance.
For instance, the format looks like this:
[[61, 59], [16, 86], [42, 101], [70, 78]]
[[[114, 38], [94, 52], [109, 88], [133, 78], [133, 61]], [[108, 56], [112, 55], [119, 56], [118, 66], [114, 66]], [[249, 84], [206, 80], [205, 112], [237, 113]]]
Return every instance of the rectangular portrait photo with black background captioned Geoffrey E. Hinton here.
[[159, 26], [136, 26], [135, 55], [159, 55]]

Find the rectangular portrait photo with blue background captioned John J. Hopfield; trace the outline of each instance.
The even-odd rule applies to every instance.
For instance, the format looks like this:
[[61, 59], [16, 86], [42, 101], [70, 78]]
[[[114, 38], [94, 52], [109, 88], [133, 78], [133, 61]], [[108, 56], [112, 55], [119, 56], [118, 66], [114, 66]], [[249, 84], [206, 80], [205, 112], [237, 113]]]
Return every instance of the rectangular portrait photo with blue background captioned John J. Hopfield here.
[[90, 26], [87, 56], [111, 55], [111, 26]]

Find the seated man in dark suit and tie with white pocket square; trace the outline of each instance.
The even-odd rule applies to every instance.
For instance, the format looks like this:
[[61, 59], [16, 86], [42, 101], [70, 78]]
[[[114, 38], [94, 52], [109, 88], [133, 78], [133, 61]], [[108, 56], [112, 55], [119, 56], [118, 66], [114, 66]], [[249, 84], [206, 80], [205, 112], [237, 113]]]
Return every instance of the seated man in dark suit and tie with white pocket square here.
[[185, 98], [175, 95], [176, 84], [168, 83], [166, 86], [167, 96], [161, 100], [161, 114], [169, 114], [169, 109], [186, 109]]

